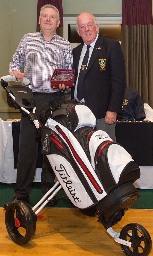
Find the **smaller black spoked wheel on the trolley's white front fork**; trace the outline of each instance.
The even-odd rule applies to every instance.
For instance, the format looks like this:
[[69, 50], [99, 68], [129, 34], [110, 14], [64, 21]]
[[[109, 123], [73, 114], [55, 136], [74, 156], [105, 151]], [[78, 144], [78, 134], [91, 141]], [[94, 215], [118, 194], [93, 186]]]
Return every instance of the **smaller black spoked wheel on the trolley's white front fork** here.
[[122, 228], [120, 238], [133, 243], [132, 247], [121, 244], [127, 256], [147, 256], [152, 248], [152, 241], [148, 231], [137, 223], [131, 223]]

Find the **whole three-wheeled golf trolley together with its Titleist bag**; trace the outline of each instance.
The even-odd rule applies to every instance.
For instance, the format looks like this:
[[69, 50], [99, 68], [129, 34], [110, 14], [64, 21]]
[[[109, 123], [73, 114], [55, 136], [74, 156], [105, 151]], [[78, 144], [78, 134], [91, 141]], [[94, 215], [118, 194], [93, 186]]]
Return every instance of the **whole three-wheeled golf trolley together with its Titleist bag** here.
[[25, 111], [42, 135], [44, 153], [59, 180], [33, 208], [23, 201], [6, 208], [5, 224], [12, 240], [25, 244], [33, 239], [38, 213], [63, 187], [82, 213], [98, 215], [98, 222], [121, 244], [125, 255], [149, 255], [152, 241], [143, 226], [131, 223], [120, 233], [112, 229], [140, 197], [133, 185], [140, 169], [128, 152], [104, 131], [94, 130], [96, 119], [86, 106], [57, 100], [43, 107], [39, 122], [30, 81], [24, 77], [25, 85], [7, 86], [8, 81], [21, 81], [11, 75], [0, 78], [8, 105]]

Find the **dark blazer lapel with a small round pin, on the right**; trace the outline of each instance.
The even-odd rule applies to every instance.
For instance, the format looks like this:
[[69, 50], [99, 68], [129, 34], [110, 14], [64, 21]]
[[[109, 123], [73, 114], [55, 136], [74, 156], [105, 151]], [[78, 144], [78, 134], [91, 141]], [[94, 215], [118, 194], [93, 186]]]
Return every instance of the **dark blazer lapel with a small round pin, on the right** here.
[[99, 55], [99, 53], [101, 52], [101, 50], [103, 49], [103, 38], [99, 35], [97, 38], [97, 41], [95, 43], [94, 49], [92, 51], [88, 66], [87, 66], [87, 70], [86, 73], [88, 72], [88, 70], [91, 68], [91, 66], [94, 64], [97, 56]]

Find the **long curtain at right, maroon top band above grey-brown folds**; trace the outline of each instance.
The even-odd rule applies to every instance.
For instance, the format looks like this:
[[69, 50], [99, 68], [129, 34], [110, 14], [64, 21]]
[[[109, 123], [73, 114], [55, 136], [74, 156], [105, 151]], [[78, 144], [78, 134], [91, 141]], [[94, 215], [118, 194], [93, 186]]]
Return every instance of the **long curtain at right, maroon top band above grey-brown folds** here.
[[121, 47], [127, 85], [153, 108], [152, 0], [122, 0]]

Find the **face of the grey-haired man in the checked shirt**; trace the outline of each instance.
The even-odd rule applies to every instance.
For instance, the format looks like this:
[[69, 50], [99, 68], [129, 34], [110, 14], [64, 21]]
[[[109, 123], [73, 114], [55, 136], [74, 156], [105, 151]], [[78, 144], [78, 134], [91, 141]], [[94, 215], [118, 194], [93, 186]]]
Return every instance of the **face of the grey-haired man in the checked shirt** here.
[[50, 30], [51, 33], [55, 33], [56, 28], [60, 25], [60, 21], [57, 21], [56, 10], [45, 8], [39, 18], [39, 25], [42, 32]]

